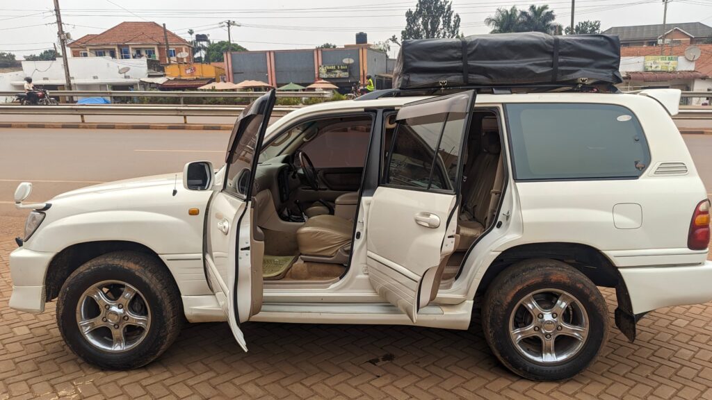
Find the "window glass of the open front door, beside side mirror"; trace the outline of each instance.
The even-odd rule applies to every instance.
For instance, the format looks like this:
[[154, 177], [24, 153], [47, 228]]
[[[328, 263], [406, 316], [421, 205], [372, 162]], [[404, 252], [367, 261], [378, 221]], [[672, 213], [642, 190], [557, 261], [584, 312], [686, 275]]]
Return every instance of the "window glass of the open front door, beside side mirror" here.
[[227, 179], [224, 191], [241, 197], [247, 196], [249, 188], [247, 183], [251, 178], [252, 159], [257, 147], [258, 132], [264, 115], [258, 114], [251, 117], [250, 122], [243, 131], [244, 134], [236, 143], [236, 151], [232, 154], [227, 164]]

